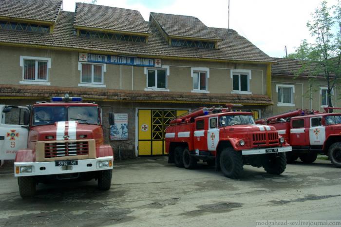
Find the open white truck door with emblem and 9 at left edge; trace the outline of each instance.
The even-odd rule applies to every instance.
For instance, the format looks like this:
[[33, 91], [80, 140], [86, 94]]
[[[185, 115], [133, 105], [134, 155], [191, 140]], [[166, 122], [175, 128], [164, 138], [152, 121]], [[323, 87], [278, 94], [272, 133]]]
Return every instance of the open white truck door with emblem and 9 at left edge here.
[[27, 148], [25, 112], [27, 107], [0, 105], [0, 160], [14, 160], [17, 151]]

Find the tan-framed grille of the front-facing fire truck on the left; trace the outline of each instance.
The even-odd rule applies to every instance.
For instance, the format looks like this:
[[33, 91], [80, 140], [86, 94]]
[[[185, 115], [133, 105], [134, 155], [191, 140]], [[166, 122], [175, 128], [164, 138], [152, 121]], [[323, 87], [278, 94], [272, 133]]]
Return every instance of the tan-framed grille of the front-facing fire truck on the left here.
[[45, 143], [45, 158], [87, 154], [89, 154], [89, 143], [87, 141]]

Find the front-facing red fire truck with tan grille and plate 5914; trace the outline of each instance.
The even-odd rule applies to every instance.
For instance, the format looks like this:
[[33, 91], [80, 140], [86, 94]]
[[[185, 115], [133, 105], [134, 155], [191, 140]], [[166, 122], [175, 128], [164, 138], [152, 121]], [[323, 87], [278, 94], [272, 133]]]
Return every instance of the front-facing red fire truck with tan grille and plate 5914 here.
[[[109, 118], [113, 124], [112, 113]], [[103, 144], [97, 104], [68, 95], [53, 97], [52, 102], [29, 107], [23, 122], [28, 129], [27, 149], [17, 151], [14, 163], [21, 197], [33, 196], [38, 183], [56, 180], [97, 179], [99, 189], [110, 189], [114, 154], [110, 145]]]

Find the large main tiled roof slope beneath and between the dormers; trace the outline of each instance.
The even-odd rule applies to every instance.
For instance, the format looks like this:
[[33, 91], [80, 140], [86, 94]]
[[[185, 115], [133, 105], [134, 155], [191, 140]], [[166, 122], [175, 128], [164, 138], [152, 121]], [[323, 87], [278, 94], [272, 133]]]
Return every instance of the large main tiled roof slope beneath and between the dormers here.
[[60, 11], [53, 33], [37, 34], [1, 30], [0, 44], [25, 44], [35, 47], [38, 45], [46, 48], [67, 48], [82, 52], [105, 52], [155, 58], [177, 57], [222, 61], [275, 62], [273, 58], [267, 56], [246, 38], [231, 29], [210, 28], [223, 40], [218, 41], [218, 49], [203, 49], [170, 46], [152, 22], [146, 22], [152, 31], [148, 43], [133, 43], [77, 37], [74, 33], [73, 21], [73, 12]]

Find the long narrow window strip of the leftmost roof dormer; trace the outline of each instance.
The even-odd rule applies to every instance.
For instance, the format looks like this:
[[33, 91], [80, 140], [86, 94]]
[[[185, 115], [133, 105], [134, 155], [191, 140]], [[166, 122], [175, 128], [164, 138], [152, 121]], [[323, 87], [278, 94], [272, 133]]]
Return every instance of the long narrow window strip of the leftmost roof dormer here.
[[23, 32], [38, 32], [38, 33], [49, 33], [49, 25], [32, 24], [32, 23], [21, 23], [0, 20], [0, 29], [23, 31]]

